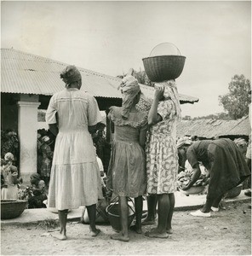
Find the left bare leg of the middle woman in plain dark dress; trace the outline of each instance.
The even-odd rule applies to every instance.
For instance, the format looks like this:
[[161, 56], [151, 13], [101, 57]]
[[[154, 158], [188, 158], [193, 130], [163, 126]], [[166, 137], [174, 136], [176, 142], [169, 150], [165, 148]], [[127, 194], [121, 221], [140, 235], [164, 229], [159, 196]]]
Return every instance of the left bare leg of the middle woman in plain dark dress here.
[[111, 238], [120, 241], [129, 241], [129, 230], [128, 230], [128, 203], [126, 196], [119, 196], [119, 208], [120, 208], [120, 220], [122, 230], [119, 234], [112, 235]]

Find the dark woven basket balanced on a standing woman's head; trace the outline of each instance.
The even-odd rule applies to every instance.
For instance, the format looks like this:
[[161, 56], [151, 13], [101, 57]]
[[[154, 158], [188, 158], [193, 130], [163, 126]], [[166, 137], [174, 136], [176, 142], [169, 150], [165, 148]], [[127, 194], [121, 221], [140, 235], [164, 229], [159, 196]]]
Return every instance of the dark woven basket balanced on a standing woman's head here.
[[142, 59], [146, 75], [152, 82], [177, 79], [183, 71], [186, 57], [181, 55], [152, 56]]

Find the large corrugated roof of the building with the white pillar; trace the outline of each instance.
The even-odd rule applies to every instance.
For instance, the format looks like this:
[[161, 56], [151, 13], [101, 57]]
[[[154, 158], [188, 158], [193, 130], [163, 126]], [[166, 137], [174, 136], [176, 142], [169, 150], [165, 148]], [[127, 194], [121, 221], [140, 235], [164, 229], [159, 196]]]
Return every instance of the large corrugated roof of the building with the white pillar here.
[[[1, 92], [51, 96], [65, 87], [60, 72], [67, 63], [54, 61], [16, 49], [1, 49]], [[117, 90], [121, 79], [77, 67], [83, 77], [82, 90], [96, 97], [121, 98]], [[152, 96], [153, 88], [140, 84], [146, 96]], [[198, 102], [198, 98], [180, 94], [181, 103]]]

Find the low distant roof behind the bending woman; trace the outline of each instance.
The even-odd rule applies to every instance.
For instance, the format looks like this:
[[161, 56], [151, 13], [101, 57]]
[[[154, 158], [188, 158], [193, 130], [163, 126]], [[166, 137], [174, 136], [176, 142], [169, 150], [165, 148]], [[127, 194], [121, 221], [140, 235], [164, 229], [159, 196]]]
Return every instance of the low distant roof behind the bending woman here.
[[177, 136], [223, 137], [249, 136], [249, 116], [237, 120], [196, 119], [181, 120], [177, 125]]

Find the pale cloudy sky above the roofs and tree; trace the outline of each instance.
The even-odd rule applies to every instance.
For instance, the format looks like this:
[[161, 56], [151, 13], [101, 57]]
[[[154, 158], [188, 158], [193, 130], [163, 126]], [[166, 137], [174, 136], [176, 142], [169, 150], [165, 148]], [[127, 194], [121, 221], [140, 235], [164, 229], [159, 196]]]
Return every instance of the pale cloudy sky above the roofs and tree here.
[[1, 48], [106, 75], [144, 70], [142, 58], [172, 43], [186, 56], [181, 105], [191, 117], [221, 113], [218, 96], [236, 74], [251, 81], [250, 1], [5, 1]]

